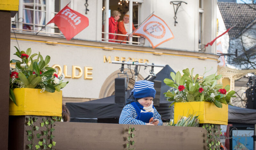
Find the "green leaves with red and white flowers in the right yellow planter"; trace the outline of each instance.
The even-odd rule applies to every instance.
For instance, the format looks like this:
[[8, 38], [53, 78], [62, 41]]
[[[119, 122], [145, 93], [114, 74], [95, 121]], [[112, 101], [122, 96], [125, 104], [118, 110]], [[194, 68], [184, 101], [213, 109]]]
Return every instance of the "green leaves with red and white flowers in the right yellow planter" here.
[[[208, 71], [205, 68], [204, 74]], [[222, 84], [217, 84], [217, 80], [222, 75], [212, 74], [204, 77], [203, 74], [203, 77], [199, 79], [199, 74], [193, 76], [194, 68], [191, 71], [187, 68], [182, 72], [184, 73], [182, 76], [179, 71], [176, 74], [171, 72], [172, 79], [164, 79], [164, 83], [172, 87], [164, 93], [168, 101], [173, 101], [171, 106], [175, 102], [210, 101], [222, 108], [222, 103], [229, 104], [231, 97], [236, 97], [235, 91], [229, 91], [229, 85], [220, 89]]]

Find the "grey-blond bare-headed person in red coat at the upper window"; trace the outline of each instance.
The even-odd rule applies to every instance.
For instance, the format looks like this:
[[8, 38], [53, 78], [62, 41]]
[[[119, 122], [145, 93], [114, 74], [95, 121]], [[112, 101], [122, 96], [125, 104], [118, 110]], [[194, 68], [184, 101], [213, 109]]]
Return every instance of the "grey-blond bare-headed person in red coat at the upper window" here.
[[[118, 20], [120, 19], [121, 13], [119, 11], [113, 11], [112, 16], [108, 20], [108, 32], [109, 33], [117, 33], [117, 24]], [[117, 39], [117, 36], [114, 34], [108, 34], [108, 41], [115, 42], [113, 40]], [[113, 39], [113, 40], [111, 40]]]

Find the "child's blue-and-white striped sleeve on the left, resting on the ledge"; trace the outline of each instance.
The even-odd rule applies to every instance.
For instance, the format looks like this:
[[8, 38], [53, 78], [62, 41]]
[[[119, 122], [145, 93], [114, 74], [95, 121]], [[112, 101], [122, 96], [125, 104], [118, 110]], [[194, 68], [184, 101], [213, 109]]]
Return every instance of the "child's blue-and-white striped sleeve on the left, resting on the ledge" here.
[[146, 125], [146, 123], [135, 119], [137, 117], [136, 110], [131, 104], [124, 106], [121, 115], [119, 117], [119, 124], [140, 124]]

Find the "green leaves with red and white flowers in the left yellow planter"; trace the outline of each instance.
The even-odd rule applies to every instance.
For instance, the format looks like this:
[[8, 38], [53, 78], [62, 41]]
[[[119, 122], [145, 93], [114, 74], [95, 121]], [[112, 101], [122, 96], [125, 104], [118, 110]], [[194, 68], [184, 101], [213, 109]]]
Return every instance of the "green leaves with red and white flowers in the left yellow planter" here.
[[[15, 68], [10, 68], [10, 100], [16, 103], [16, 98], [13, 93], [14, 88], [36, 88], [42, 89], [41, 92], [60, 91], [68, 84], [64, 82], [63, 75], [54, 76], [55, 69], [48, 67], [51, 57], [46, 56], [45, 59], [40, 54], [31, 54], [31, 49], [20, 51], [15, 47], [17, 52], [13, 55], [18, 56], [20, 60], [12, 59], [10, 63], [15, 63]], [[23, 56], [24, 55], [24, 56]], [[33, 59], [37, 56], [36, 59]], [[21, 58], [22, 57], [22, 58]]]

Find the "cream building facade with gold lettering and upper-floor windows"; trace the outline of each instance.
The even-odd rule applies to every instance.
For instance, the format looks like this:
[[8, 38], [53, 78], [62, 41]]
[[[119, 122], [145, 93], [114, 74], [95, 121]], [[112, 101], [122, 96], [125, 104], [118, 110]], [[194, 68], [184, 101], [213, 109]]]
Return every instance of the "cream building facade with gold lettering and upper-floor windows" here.
[[[67, 41], [54, 24], [42, 27], [69, 2], [71, 9], [89, 19], [89, 26]], [[128, 9], [121, 7], [119, 2], [88, 1], [89, 11], [85, 12], [83, 0], [20, 0], [19, 12], [11, 23], [11, 59], [17, 59], [12, 55], [16, 51], [14, 46], [21, 50], [31, 48], [32, 53], [40, 52], [43, 57], [51, 56], [49, 66], [55, 68], [58, 74], [64, 73], [65, 81], [69, 80], [63, 89], [63, 103], [90, 101], [114, 94], [114, 82], [121, 64], [112, 64], [112, 61], [168, 64], [176, 72], [195, 68], [194, 72], [203, 74], [204, 67], [213, 67], [209, 74], [217, 71], [219, 56], [216, 55], [216, 44], [204, 49], [204, 44], [216, 37], [216, 1], [185, 0], [187, 4], [182, 3], [176, 12], [176, 26], [174, 8], [177, 5], [173, 8], [168, 0], [130, 0], [126, 1]], [[121, 10], [119, 21], [126, 11], [132, 12], [130, 20], [135, 27], [154, 12], [166, 22], [174, 38], [155, 49], [147, 39], [138, 36], [130, 38], [127, 44], [108, 42], [104, 24], [113, 10]], [[127, 65], [124, 67], [128, 77], [133, 76], [128, 85], [132, 88], [134, 66], [129, 69]], [[146, 78], [150, 69], [141, 66], [138, 80]], [[161, 69], [155, 67], [154, 71], [157, 73]]]

